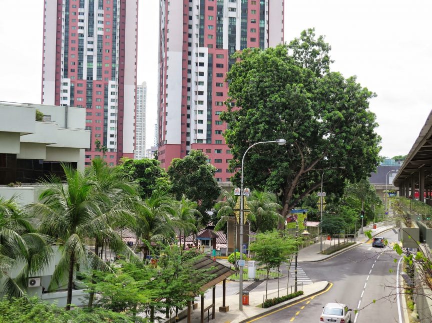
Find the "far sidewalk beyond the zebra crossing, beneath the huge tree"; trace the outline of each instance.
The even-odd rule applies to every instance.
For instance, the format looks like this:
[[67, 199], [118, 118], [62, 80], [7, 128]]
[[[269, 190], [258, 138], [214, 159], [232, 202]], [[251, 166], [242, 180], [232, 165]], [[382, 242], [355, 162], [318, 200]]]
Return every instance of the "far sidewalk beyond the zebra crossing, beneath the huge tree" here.
[[[379, 235], [380, 233], [390, 230], [394, 228], [394, 226], [390, 225], [390, 226], [383, 226], [383, 227], [379, 227], [376, 229], [367, 229], [367, 227], [365, 227], [363, 230], [370, 230], [371, 231], [371, 235], [376, 236]], [[337, 239], [335, 239], [337, 241]], [[300, 251], [298, 252], [298, 262], [302, 263], [302, 262], [315, 262], [315, 261], [321, 261], [324, 260], [326, 258], [332, 257], [334, 255], [340, 254], [346, 250], [349, 250], [351, 248], [354, 248], [355, 246], [358, 246], [359, 244], [365, 243], [369, 240], [369, 238], [366, 237], [366, 235], [364, 234], [359, 234], [357, 239], [356, 239], [356, 243], [355, 245], [352, 245], [348, 248], [342, 249], [340, 251], [337, 251], [333, 254], [330, 255], [320, 255], [320, 250], [321, 250], [321, 244], [320, 242], [317, 242], [309, 247], [300, 249]], [[327, 248], [330, 248], [330, 246], [333, 246], [335, 244], [335, 241], [332, 240], [323, 240], [322, 241], [322, 250], [326, 250]]]

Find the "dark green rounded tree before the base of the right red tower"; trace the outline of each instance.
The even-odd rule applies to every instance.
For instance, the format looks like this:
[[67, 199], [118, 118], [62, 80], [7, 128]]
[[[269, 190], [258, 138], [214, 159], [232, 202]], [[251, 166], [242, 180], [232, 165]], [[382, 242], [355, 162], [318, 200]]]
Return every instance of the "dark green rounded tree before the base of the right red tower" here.
[[189, 155], [172, 160], [168, 167], [168, 175], [172, 183], [175, 198], [180, 200], [183, 195], [198, 203], [201, 212], [201, 223], [207, 224], [210, 210], [221, 193], [216, 179], [216, 168], [207, 162], [207, 156], [200, 150], [191, 150]]

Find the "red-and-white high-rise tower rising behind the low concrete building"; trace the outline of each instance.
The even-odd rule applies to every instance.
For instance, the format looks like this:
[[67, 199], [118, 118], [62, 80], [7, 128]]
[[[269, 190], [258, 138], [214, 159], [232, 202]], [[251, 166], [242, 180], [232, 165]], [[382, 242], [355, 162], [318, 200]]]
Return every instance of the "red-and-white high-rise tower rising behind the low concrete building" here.
[[134, 157], [137, 28], [138, 0], [45, 0], [42, 103], [86, 109], [87, 165]]

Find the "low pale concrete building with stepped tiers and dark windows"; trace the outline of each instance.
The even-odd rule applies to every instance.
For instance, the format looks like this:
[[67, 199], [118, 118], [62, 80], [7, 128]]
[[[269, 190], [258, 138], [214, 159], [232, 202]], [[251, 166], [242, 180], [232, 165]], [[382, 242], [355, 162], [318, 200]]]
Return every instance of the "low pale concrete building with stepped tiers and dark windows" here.
[[[36, 110], [43, 121], [36, 121]], [[39, 180], [62, 175], [62, 163], [84, 170], [86, 109], [0, 101], [0, 113], [0, 196], [33, 203]]]

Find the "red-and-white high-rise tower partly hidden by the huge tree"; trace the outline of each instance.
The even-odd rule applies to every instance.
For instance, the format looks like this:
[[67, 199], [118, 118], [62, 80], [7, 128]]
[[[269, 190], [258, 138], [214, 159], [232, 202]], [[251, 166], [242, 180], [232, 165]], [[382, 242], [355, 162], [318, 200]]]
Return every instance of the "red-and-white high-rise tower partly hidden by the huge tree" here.
[[283, 0], [160, 0], [159, 160], [202, 150], [229, 181], [232, 158], [219, 115], [226, 109], [231, 55], [283, 42]]

